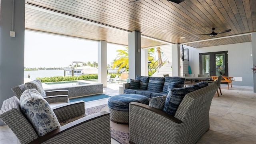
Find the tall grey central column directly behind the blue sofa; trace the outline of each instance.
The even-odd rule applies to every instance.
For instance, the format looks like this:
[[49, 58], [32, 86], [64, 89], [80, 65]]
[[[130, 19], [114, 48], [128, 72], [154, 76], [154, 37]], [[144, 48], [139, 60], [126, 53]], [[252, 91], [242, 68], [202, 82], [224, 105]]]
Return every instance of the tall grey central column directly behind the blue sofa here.
[[141, 46], [140, 32], [129, 33], [129, 78], [135, 79], [136, 75], [141, 76]]

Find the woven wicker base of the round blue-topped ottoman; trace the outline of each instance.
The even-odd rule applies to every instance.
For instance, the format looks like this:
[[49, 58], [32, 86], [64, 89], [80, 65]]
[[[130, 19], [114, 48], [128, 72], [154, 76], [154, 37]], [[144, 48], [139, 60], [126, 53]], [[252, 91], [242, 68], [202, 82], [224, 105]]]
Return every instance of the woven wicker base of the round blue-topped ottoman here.
[[116, 123], [129, 123], [129, 112], [119, 111], [119, 110], [113, 110], [111, 108], [108, 108], [108, 111], [110, 113], [110, 120]]

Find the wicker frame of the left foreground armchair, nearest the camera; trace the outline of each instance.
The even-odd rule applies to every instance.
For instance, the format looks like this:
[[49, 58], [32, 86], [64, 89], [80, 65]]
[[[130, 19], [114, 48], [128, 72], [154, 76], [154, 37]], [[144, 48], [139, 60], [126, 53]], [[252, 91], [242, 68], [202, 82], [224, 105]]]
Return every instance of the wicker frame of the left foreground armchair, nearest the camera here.
[[70, 102], [52, 108], [59, 122], [81, 117], [60, 128], [38, 137], [24, 117], [20, 100], [13, 96], [3, 102], [0, 119], [14, 132], [21, 144], [110, 144], [110, 118], [108, 112], [85, 116], [84, 101]]

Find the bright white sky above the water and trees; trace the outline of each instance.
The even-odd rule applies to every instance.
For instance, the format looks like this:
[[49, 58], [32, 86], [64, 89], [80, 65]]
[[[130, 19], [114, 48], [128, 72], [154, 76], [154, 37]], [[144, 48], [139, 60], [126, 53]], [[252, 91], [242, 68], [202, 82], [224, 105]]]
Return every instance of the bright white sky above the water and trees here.
[[[107, 64], [116, 58], [116, 50], [124, 46], [108, 44]], [[72, 61], [98, 62], [98, 42], [25, 31], [26, 68], [67, 67]]]

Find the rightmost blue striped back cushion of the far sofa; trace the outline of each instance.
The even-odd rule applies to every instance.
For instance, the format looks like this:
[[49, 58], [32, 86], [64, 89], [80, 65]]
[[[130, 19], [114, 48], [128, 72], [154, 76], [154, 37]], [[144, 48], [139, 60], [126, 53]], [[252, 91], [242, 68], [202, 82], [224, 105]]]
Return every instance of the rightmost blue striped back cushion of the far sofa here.
[[171, 77], [171, 76], [166, 76], [164, 80], [164, 87], [162, 92], [168, 93], [168, 84], [170, 82], [177, 82], [178, 83], [178, 88], [182, 88], [184, 86], [185, 78], [180, 78], [180, 77]]

